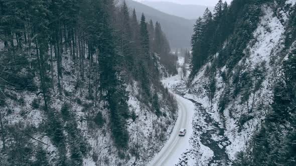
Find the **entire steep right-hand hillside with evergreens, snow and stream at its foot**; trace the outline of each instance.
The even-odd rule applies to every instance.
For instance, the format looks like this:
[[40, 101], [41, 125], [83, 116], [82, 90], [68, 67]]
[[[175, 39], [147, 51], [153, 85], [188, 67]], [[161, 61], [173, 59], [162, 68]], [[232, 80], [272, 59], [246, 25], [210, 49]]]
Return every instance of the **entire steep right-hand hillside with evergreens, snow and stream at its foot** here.
[[197, 106], [186, 163], [295, 164], [295, 3], [219, 1], [197, 20], [192, 72], [175, 87]]

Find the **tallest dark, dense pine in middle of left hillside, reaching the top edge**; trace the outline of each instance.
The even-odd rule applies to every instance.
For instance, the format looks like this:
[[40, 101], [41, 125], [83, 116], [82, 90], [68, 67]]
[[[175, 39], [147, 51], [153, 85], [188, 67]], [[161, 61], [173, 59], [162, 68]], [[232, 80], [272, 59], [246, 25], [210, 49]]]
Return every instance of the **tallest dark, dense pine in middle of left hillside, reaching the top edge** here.
[[110, 24], [109, 11], [112, 11], [112, 2], [104, 1], [105, 7], [103, 8], [104, 19], [102, 27], [101, 44], [99, 56], [101, 87], [106, 91], [106, 98], [108, 101], [108, 108], [110, 110], [111, 131], [114, 142], [117, 147], [125, 148], [128, 142], [128, 131], [126, 129], [125, 119], [122, 116], [128, 112], [124, 82], [121, 79], [120, 70], [120, 56], [116, 52], [114, 42], [113, 30]]

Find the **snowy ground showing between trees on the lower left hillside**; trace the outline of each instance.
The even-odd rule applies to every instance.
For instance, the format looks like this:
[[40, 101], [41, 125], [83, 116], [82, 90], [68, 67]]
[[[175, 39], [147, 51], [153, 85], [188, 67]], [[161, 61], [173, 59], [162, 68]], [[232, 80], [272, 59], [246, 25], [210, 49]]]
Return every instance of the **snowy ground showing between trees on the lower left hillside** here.
[[[105, 101], [94, 101], [91, 96], [88, 96], [87, 83], [79, 88], [75, 87], [75, 77], [67, 74], [72, 64], [70, 54], [63, 54], [65, 70], [62, 86], [64, 91], [59, 95], [56, 88], [57, 91], [53, 91], [50, 102], [50, 112], [55, 113], [61, 120], [48, 119], [49, 117], [41, 107], [41, 94], [29, 90], [7, 90], [6, 93], [9, 94], [6, 101], [7, 106], [0, 107], [4, 126], [10, 129], [17, 126], [20, 132], [25, 132], [25, 129], [36, 129], [36, 132], [31, 132], [32, 135], [28, 142], [34, 145], [40, 144], [48, 154], [49, 162], [54, 165], [61, 156], [58, 145], [47, 134], [47, 130], [52, 129], [48, 121], [52, 122], [52, 125], [61, 125], [61, 132], [65, 135], [64, 142], [72, 141], [73, 137], [81, 141], [76, 144], [80, 145], [80, 143], [83, 144], [82, 141], [85, 141], [83, 145], [90, 150], [83, 156], [81, 163], [83, 165], [144, 165], [149, 162], [169, 138], [174, 127], [178, 109], [174, 96], [166, 93], [166, 89], [161, 87], [164, 93], [159, 92], [158, 96], [163, 115], [158, 117], [152, 111], [151, 105], [146, 105], [139, 99], [138, 82], [128, 84], [126, 89], [129, 92], [128, 106], [132, 114], [127, 120], [129, 141], [125, 151], [118, 150], [112, 140], [109, 111]], [[56, 69], [56, 65], [54, 67]], [[35, 81], [39, 82], [37, 78]], [[175, 108], [172, 109], [172, 107]], [[96, 112], [101, 114], [99, 126], [93, 122], [93, 118], [97, 118]], [[74, 131], [69, 130], [71, 124], [77, 127]], [[73, 132], [74, 136], [70, 132]], [[12, 139], [10, 136], [12, 135], [7, 134], [8, 140]], [[25, 137], [24, 135], [17, 136]], [[67, 155], [70, 157], [70, 151], [74, 147], [70, 144], [65, 146]], [[2, 148], [3, 142], [1, 141], [0, 149]], [[2, 157], [0, 157], [0, 165], [8, 165], [9, 163], [5, 162]]]

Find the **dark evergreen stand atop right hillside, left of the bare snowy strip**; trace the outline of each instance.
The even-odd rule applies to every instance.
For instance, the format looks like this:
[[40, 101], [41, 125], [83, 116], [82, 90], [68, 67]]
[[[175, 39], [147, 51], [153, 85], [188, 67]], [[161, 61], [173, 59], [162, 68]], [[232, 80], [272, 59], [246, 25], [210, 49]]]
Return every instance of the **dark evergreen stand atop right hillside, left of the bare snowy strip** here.
[[228, 5], [219, 0], [214, 14], [209, 9], [205, 10], [203, 17], [196, 20], [191, 40], [192, 76], [216, 52], [222, 54], [215, 60], [217, 67], [226, 64], [230, 70], [233, 68], [243, 56], [243, 49], [257, 27], [263, 2], [266, 0], [234, 0]]

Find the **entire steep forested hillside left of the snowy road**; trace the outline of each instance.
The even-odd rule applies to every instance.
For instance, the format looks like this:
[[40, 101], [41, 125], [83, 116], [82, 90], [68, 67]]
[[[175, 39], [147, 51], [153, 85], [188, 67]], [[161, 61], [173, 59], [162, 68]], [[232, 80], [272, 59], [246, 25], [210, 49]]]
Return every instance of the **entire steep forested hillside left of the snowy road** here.
[[159, 150], [178, 111], [160, 67], [176, 64], [161, 27], [130, 15], [0, 1], [0, 165], [143, 165]]

